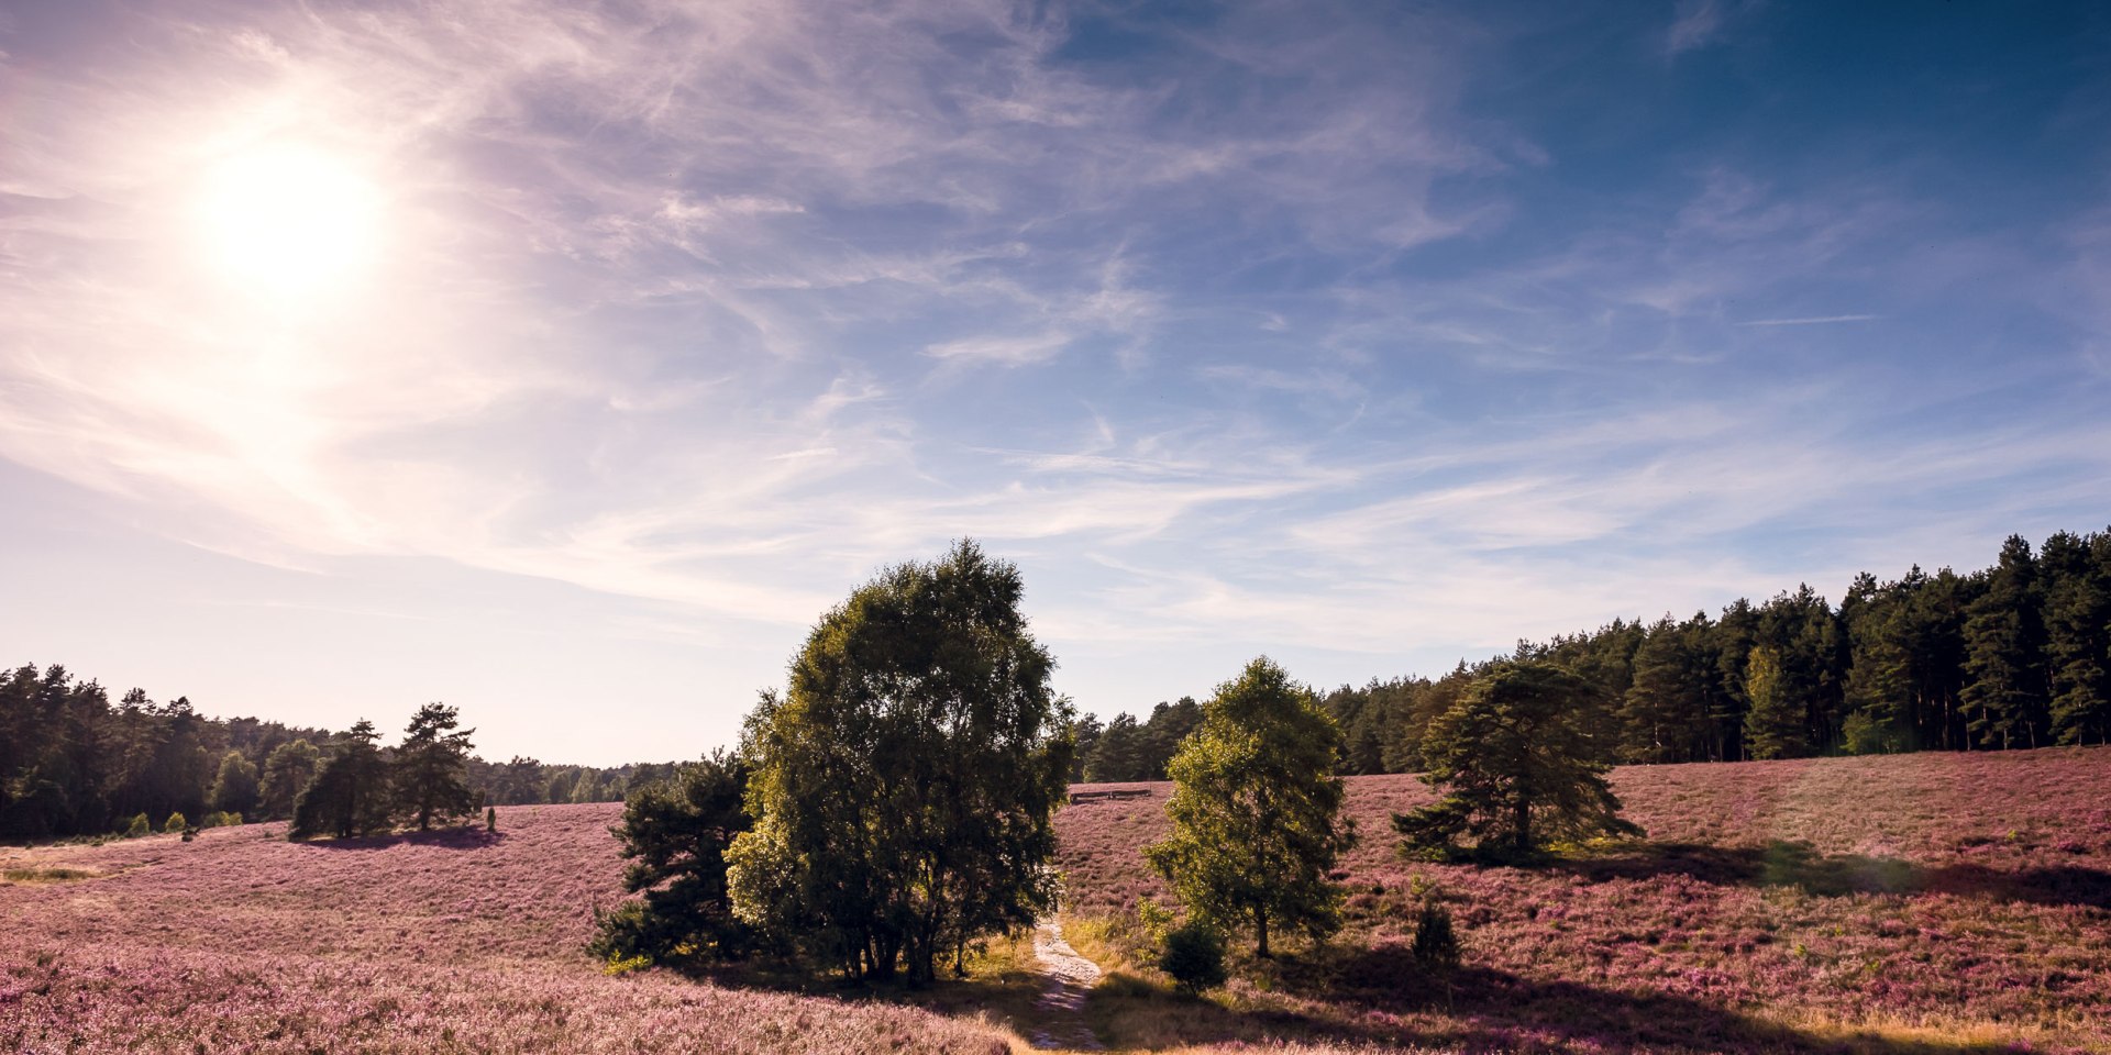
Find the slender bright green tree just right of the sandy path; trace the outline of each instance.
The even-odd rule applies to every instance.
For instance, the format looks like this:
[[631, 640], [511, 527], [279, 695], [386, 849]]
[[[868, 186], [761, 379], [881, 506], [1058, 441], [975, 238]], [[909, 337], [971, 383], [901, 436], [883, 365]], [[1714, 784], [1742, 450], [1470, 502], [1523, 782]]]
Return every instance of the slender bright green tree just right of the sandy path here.
[[1313, 939], [1340, 926], [1328, 871], [1355, 831], [1340, 817], [1338, 751], [1334, 720], [1269, 658], [1218, 686], [1172, 762], [1174, 829], [1144, 850], [1193, 918], [1252, 928], [1258, 956], [1271, 926]]

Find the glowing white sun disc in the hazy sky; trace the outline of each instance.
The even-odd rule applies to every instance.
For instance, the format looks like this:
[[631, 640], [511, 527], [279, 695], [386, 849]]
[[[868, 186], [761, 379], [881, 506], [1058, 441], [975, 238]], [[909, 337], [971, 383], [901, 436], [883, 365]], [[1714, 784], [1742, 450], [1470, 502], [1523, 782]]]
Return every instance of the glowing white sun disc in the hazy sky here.
[[268, 146], [207, 173], [198, 236], [228, 283], [306, 300], [340, 289], [372, 264], [382, 205], [380, 188], [346, 158]]

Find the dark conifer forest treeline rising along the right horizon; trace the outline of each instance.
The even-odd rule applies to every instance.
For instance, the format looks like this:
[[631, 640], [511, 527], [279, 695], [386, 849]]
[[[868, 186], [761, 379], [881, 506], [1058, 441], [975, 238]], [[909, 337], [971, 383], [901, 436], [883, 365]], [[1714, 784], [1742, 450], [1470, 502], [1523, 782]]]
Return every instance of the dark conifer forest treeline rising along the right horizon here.
[[[1596, 736], [1625, 762], [1970, 751], [2111, 741], [2111, 532], [2003, 542], [1991, 568], [1879, 582], [1839, 606], [1803, 584], [1718, 616], [1613, 620], [1520, 641], [1442, 677], [1340, 686], [1321, 703], [1343, 772], [1421, 772], [1423, 736], [1492, 663], [1549, 660], [1611, 703]], [[1163, 781], [1199, 722], [1191, 698], [1146, 720], [1087, 715], [1081, 781]]]

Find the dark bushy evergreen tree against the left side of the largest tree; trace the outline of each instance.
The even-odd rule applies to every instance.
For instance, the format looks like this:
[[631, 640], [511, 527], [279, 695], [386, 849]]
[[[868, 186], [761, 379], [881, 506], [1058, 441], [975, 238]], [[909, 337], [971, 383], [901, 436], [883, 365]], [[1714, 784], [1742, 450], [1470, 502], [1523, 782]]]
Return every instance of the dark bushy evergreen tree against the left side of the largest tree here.
[[754, 931], [733, 914], [726, 850], [754, 827], [747, 817], [747, 762], [722, 751], [682, 766], [623, 804], [616, 840], [631, 865], [623, 888], [644, 895], [602, 916], [593, 952], [652, 962], [745, 956]]

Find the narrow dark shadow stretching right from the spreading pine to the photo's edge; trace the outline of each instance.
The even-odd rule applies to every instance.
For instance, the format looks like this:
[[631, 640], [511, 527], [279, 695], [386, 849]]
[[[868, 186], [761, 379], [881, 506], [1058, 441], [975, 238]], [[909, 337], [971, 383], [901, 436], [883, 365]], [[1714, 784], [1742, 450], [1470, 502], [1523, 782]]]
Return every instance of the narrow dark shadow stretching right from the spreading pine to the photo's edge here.
[[1590, 880], [1687, 876], [1716, 886], [1799, 886], [1818, 897], [1927, 893], [2111, 912], [2111, 871], [2096, 867], [1921, 865], [1896, 857], [1820, 855], [1807, 842], [1784, 840], [1765, 846], [1653, 842], [1611, 857], [1556, 861], [1552, 867]]

